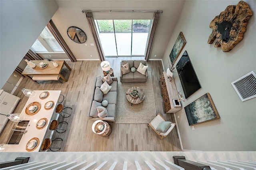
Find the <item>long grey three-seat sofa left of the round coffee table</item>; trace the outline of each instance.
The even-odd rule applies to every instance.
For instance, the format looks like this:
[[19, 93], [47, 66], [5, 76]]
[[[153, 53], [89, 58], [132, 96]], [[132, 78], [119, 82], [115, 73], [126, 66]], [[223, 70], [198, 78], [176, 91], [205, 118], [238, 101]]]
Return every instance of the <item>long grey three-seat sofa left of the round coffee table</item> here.
[[[117, 77], [111, 77], [113, 82], [110, 84], [112, 88], [107, 94], [103, 94], [100, 90], [100, 86], [102, 85], [102, 77], [98, 76], [95, 78], [95, 86], [94, 86], [94, 93], [92, 97], [92, 104], [89, 113], [89, 119], [91, 121], [102, 120], [102, 121], [109, 121], [115, 122], [116, 121], [116, 105], [117, 105], [117, 95], [118, 95], [118, 81]], [[101, 102], [103, 100], [108, 101], [108, 106], [106, 107], [108, 111], [108, 117], [97, 117], [97, 109], [96, 107], [102, 106]]]

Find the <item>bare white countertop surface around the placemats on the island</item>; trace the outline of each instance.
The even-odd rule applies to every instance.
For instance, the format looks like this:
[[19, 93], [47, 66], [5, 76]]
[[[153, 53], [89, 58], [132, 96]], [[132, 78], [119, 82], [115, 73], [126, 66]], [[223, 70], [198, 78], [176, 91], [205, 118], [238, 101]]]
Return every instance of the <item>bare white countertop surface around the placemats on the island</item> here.
[[[58, 98], [60, 96], [61, 90], [34, 90], [36, 92], [35, 97], [30, 97], [25, 104], [24, 108], [22, 109], [21, 114], [25, 116], [24, 121], [29, 121], [28, 126], [25, 134], [23, 134], [19, 144], [8, 144], [4, 147], [4, 152], [28, 152], [26, 150], [26, 144], [27, 142], [32, 138], [39, 138], [39, 146], [32, 152], [38, 152], [40, 150], [41, 144], [43, 142], [44, 136], [46, 134], [46, 131], [48, 130], [48, 127], [50, 125], [50, 121], [52, 118], [52, 115], [55, 113], [56, 105], [58, 105]], [[42, 92], [48, 91], [49, 96], [46, 99], [40, 99], [39, 96]], [[54, 107], [50, 110], [44, 109], [44, 105], [48, 101], [54, 101]], [[38, 102], [41, 104], [41, 109], [36, 113], [35, 115], [27, 115], [25, 113], [26, 107], [32, 103], [32, 102]], [[56, 113], [55, 113], [56, 114]], [[37, 129], [36, 123], [39, 119], [46, 118], [48, 119], [48, 124], [43, 129]]]

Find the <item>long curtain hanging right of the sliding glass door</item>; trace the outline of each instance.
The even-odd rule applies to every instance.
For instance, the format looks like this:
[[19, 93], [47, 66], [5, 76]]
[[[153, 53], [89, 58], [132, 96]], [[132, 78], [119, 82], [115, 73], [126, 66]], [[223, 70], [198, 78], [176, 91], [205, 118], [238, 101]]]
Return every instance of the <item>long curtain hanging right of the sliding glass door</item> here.
[[156, 26], [159, 20], [159, 12], [155, 12], [154, 13], [154, 19], [152, 22], [152, 27], [150, 30], [150, 35], [148, 38], [148, 44], [147, 44], [147, 49], [146, 49], [146, 55], [145, 55], [145, 60], [148, 61], [149, 57], [150, 57], [150, 52], [151, 52], [151, 48], [152, 48], [152, 44], [153, 44], [153, 40], [154, 40], [154, 35], [156, 32]]

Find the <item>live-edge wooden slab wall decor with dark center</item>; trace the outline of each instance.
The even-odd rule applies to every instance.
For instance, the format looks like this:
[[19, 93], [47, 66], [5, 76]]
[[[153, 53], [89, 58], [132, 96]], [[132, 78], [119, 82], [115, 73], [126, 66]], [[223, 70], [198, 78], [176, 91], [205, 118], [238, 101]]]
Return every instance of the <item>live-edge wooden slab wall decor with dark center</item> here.
[[236, 6], [228, 6], [210, 23], [212, 34], [209, 36], [208, 43], [214, 42], [214, 47], [221, 47], [224, 52], [230, 51], [243, 39], [251, 16], [252, 10], [242, 0]]

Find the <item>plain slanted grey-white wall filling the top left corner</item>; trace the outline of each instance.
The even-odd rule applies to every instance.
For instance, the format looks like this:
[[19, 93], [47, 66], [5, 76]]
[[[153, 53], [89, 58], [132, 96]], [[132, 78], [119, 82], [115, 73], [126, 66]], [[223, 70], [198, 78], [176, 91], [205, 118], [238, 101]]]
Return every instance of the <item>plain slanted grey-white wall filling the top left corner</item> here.
[[1, 0], [0, 87], [36, 41], [58, 6], [53, 0]]

